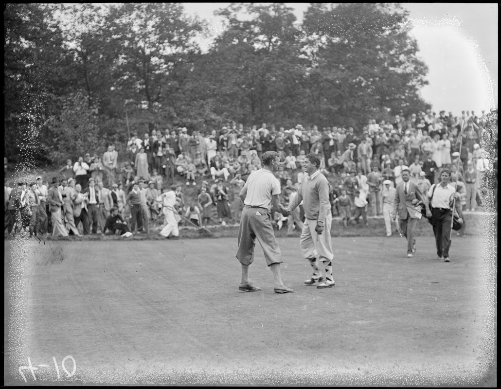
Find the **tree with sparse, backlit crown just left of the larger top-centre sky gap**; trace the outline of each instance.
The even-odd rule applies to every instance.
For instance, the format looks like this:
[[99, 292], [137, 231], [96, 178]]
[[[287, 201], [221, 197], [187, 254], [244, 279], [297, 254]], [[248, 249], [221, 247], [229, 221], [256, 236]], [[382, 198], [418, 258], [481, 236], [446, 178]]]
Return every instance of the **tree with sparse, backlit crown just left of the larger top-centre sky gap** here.
[[199, 53], [195, 37], [204, 25], [188, 18], [180, 3], [112, 6], [105, 24], [104, 37], [115, 55], [110, 89], [131, 102], [136, 119], [148, 125], [145, 130], [175, 120]]

